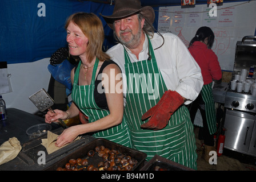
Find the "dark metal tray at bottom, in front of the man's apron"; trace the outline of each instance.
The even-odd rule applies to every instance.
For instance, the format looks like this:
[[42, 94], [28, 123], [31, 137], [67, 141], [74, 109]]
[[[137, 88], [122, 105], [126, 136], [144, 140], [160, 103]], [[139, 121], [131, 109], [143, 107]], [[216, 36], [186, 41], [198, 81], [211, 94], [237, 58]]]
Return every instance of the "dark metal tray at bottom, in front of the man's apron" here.
[[159, 166], [165, 171], [194, 171], [189, 167], [183, 166], [181, 164], [175, 163], [169, 159], [163, 158], [159, 155], [155, 155], [152, 159], [143, 166], [141, 171], [155, 171], [155, 167]]

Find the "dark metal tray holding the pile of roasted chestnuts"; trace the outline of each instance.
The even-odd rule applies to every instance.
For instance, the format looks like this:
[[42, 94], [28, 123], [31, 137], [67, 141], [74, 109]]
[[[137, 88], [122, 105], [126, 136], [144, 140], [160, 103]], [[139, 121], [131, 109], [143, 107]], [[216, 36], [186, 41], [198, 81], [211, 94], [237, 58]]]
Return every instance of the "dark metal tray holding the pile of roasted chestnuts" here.
[[[70, 159], [86, 158], [87, 153], [90, 150], [94, 150], [94, 148], [97, 146], [105, 146], [105, 147], [109, 148], [110, 150], [112, 150], [112, 149], [118, 150], [122, 154], [129, 155], [129, 156], [131, 156], [131, 158], [136, 159], [138, 161], [138, 163], [133, 167], [132, 170], [135, 170], [136, 168], [138, 168], [139, 165], [142, 162], [144, 162], [144, 160], [147, 157], [147, 155], [144, 152], [134, 150], [132, 148], [125, 147], [125, 146], [122, 146], [121, 144], [117, 144], [117, 143], [114, 143], [114, 142], [111, 142], [109, 140], [102, 138], [102, 139], [93, 140], [93, 142], [90, 142], [87, 145], [79, 148], [77, 151], [74, 151], [70, 155], [66, 156], [66, 158], [59, 160], [57, 163], [54, 163], [53, 165], [46, 168], [45, 170], [55, 171], [58, 167], [65, 167], [65, 164], [68, 163]], [[94, 155], [93, 157], [91, 157], [88, 160], [89, 160], [89, 164], [97, 166], [97, 164], [99, 162], [99, 157], [98, 157], [98, 155]]]

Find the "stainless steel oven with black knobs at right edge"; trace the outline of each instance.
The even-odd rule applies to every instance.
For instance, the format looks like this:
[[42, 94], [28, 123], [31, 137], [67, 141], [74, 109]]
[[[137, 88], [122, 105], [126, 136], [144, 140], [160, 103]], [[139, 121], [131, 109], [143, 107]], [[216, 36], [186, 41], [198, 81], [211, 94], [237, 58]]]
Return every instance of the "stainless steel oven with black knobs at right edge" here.
[[[246, 40], [251, 41], [246, 41]], [[237, 42], [234, 75], [247, 69], [246, 79], [255, 81], [256, 68], [256, 37], [246, 36], [242, 42]], [[239, 82], [239, 80], [237, 81]], [[227, 90], [225, 96], [225, 144], [224, 147], [244, 154], [256, 156], [256, 96], [250, 92]]]

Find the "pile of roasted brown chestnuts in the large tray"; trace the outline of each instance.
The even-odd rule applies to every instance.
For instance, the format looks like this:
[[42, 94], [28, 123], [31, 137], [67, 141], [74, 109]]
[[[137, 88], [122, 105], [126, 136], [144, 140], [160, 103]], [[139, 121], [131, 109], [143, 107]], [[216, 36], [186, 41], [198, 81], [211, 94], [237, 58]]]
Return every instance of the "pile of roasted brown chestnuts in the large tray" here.
[[[101, 158], [101, 161], [97, 166], [93, 166], [88, 159], [96, 155]], [[130, 171], [137, 163], [137, 160], [122, 154], [118, 150], [97, 146], [94, 150], [87, 152], [86, 158], [70, 159], [64, 168], [58, 167], [57, 171]]]

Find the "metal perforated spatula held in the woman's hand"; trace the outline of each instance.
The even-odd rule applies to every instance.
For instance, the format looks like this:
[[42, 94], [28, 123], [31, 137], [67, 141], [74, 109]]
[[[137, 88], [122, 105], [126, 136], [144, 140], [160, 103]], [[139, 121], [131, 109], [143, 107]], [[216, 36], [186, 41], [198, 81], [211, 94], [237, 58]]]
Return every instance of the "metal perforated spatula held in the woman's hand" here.
[[[45, 91], [45, 89], [41, 89], [38, 92], [34, 93], [32, 96], [29, 97], [30, 101], [39, 109], [39, 111], [45, 111], [46, 109], [50, 110], [51, 112], [55, 113], [51, 106], [54, 105], [54, 100], [51, 96]], [[63, 128], [67, 128], [65, 122], [62, 119], [58, 119], [61, 123]]]

